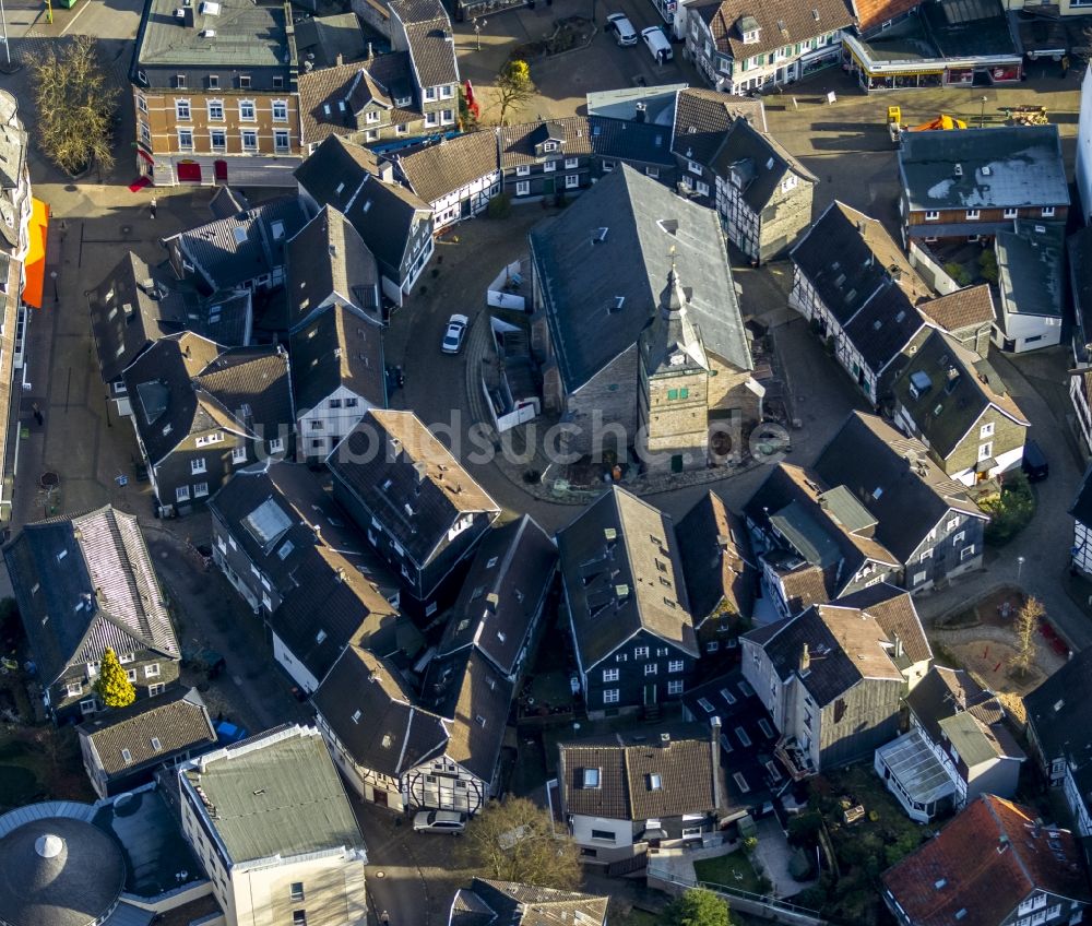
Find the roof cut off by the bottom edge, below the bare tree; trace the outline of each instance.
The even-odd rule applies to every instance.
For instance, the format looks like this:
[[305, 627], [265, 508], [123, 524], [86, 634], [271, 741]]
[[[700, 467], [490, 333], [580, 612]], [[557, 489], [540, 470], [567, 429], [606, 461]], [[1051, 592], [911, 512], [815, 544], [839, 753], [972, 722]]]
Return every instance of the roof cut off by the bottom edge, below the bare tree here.
[[470, 889], [456, 892], [448, 926], [605, 926], [609, 900], [475, 878]]

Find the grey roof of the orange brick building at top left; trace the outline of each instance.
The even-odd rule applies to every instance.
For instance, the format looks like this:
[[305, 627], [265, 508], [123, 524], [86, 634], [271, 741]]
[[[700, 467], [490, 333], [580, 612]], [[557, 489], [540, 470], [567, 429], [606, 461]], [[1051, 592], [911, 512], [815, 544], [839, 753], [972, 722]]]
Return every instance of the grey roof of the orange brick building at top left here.
[[[134, 62], [140, 67], [287, 68], [286, 7], [217, 0], [219, 11], [193, 0], [193, 24], [175, 15], [177, 0], [146, 0]], [[215, 33], [214, 35], [211, 33]]]

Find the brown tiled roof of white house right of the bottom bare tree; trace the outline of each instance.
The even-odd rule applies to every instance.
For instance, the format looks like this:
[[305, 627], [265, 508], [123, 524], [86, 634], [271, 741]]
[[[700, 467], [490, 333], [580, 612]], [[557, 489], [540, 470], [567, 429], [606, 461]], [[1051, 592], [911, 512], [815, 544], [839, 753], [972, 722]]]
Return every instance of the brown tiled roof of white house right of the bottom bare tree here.
[[[612, 820], [681, 817], [716, 809], [719, 746], [708, 726], [692, 724], [634, 735], [558, 744], [558, 777], [566, 814]], [[598, 769], [598, 786], [584, 787], [584, 770]], [[660, 787], [652, 776], [658, 775]]]

